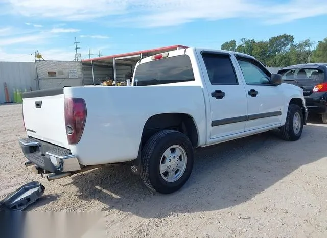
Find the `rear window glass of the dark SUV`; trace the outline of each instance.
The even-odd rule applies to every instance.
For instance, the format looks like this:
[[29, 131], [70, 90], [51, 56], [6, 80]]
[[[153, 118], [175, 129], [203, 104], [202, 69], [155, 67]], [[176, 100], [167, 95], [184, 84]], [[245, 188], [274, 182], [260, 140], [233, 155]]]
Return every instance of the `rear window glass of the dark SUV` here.
[[324, 81], [324, 72], [317, 68], [297, 68], [286, 70], [282, 73], [282, 81], [313, 81], [314, 83], [322, 83]]

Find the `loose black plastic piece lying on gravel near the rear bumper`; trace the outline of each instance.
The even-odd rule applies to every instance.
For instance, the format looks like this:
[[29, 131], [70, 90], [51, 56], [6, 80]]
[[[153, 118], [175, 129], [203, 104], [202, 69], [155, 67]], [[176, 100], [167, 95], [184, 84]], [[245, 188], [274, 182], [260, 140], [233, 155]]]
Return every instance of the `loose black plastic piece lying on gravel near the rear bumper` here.
[[22, 211], [38, 200], [44, 193], [44, 186], [36, 181], [22, 185], [0, 201], [0, 211]]

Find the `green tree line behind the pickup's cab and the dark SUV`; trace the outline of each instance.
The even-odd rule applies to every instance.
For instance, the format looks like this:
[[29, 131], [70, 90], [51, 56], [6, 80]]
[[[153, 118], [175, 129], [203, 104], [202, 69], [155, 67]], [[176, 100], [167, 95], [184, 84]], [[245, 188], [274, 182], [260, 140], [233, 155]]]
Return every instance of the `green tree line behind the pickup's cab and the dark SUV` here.
[[294, 36], [288, 34], [261, 41], [242, 38], [238, 45], [236, 40], [223, 43], [221, 49], [251, 55], [267, 67], [327, 62], [327, 38], [317, 44], [310, 39], [296, 42]]

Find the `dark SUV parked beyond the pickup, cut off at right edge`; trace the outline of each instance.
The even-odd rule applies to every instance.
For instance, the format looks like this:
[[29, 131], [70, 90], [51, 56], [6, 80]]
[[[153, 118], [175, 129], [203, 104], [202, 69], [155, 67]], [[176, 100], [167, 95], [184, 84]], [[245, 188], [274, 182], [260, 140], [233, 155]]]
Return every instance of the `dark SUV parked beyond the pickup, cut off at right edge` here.
[[321, 114], [327, 124], [327, 63], [309, 63], [287, 66], [278, 71], [283, 83], [303, 89], [309, 113]]

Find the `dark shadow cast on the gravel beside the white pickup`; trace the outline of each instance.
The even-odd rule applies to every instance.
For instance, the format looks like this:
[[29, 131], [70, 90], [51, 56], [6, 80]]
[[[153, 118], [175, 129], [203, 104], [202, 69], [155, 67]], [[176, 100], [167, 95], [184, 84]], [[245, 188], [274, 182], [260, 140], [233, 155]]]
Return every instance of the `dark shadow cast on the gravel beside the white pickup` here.
[[75, 175], [72, 183], [81, 199], [102, 202], [102, 210], [144, 218], [219, 210], [246, 202], [300, 166], [325, 157], [321, 145], [326, 134], [327, 127], [307, 125], [295, 142], [283, 141], [272, 131], [200, 149], [189, 181], [170, 195], [149, 191], [128, 166]]

